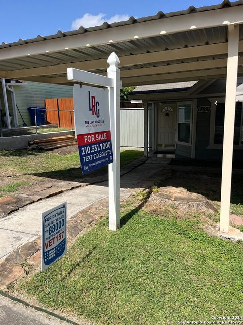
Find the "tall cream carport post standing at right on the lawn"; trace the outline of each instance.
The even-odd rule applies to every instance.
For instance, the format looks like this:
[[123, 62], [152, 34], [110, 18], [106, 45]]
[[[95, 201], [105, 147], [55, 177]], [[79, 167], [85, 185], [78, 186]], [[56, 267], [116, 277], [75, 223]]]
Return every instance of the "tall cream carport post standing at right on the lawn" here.
[[234, 143], [235, 101], [238, 73], [239, 25], [228, 26], [228, 59], [225, 94], [224, 142], [221, 182], [220, 231], [229, 232], [230, 194]]

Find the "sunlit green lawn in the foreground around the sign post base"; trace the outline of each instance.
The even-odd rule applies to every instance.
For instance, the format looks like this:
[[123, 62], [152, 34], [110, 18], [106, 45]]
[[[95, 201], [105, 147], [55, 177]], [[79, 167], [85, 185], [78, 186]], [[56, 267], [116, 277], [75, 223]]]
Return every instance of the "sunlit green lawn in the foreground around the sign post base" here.
[[199, 219], [163, 219], [133, 204], [123, 208], [117, 232], [105, 219], [77, 240], [62, 259], [62, 279], [59, 261], [22, 289], [46, 307], [101, 324], [242, 315], [243, 246], [208, 236]]

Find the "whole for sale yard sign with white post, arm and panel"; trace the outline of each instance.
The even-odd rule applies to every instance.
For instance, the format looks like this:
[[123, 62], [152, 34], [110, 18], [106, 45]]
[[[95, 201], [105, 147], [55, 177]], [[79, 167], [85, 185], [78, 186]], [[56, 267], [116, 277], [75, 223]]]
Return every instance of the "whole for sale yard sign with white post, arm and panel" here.
[[113, 52], [107, 63], [107, 77], [67, 68], [67, 79], [75, 83], [75, 131], [82, 171], [87, 173], [109, 164], [109, 229], [117, 230], [120, 226], [120, 60]]

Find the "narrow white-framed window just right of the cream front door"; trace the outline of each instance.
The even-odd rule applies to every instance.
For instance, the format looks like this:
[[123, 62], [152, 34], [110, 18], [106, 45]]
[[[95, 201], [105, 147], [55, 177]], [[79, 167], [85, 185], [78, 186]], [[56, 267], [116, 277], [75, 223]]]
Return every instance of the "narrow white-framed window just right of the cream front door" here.
[[178, 107], [178, 142], [190, 143], [192, 102], [177, 103]]

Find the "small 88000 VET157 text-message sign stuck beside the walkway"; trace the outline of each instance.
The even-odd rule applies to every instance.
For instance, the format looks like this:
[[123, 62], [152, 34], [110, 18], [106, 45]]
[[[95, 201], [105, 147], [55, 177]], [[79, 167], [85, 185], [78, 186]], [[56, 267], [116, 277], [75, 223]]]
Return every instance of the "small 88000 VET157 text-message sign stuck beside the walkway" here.
[[66, 202], [42, 213], [42, 271], [66, 254], [66, 224]]

